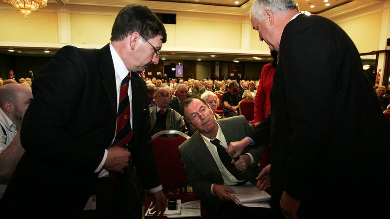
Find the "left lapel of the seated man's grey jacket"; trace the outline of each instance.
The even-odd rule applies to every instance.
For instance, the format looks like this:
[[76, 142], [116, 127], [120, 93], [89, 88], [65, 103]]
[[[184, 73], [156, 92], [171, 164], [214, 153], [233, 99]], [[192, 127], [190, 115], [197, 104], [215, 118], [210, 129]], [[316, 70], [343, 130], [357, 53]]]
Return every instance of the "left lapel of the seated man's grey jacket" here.
[[208, 166], [218, 177], [222, 179], [221, 172], [219, 172], [218, 166], [215, 163], [213, 156], [211, 155], [207, 145], [204, 143], [203, 138], [200, 136], [199, 132], [195, 132], [194, 136], [196, 139], [196, 156], [202, 160], [206, 166]]

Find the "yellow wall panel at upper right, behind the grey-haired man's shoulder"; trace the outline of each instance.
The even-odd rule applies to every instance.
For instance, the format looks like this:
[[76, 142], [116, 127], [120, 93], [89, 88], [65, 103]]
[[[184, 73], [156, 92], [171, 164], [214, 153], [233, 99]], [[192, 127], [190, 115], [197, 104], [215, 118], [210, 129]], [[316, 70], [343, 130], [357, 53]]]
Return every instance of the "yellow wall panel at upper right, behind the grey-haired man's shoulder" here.
[[350, 36], [359, 53], [378, 50], [382, 12], [337, 23]]

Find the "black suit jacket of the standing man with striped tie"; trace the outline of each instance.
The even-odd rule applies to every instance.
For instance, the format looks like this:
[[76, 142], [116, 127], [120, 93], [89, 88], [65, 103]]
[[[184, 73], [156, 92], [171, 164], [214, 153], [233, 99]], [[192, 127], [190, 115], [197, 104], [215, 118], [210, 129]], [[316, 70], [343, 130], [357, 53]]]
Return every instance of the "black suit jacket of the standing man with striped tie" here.
[[[154, 188], [160, 181], [149, 135], [146, 85], [134, 73], [131, 88], [129, 150], [144, 187]], [[15, 218], [78, 218], [94, 195], [94, 171], [115, 136], [117, 91], [109, 45], [64, 46], [38, 74], [32, 89], [34, 100], [20, 137], [26, 152], [4, 194], [4, 211]]]

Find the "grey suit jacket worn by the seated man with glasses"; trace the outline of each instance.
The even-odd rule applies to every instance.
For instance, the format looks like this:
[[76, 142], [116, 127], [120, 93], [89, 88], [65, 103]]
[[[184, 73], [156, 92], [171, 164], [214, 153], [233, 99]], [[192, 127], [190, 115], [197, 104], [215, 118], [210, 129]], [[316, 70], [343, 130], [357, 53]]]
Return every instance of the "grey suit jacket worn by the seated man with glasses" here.
[[[236, 116], [227, 119], [216, 120], [225, 136], [228, 145], [232, 141], [238, 141], [248, 136], [253, 127], [243, 116]], [[259, 173], [257, 163], [264, 152], [265, 147], [248, 147], [245, 153], [251, 153], [254, 164], [250, 165], [243, 174], [245, 179], [252, 182]], [[213, 156], [204, 143], [199, 131], [179, 146], [181, 159], [184, 164], [184, 171], [187, 175], [188, 183], [193, 187], [195, 195], [204, 202], [218, 201], [217, 197], [211, 194], [213, 183], [223, 184], [222, 175], [215, 163]]]

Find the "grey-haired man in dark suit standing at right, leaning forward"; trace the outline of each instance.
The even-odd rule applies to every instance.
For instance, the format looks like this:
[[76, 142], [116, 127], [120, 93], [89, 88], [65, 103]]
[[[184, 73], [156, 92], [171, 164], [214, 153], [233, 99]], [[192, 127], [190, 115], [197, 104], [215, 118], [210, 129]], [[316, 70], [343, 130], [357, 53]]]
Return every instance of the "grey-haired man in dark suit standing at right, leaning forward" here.
[[259, 126], [271, 128], [278, 217], [388, 218], [389, 141], [377, 137], [390, 127], [352, 40], [331, 20], [299, 13], [294, 0], [256, 0], [251, 21], [280, 52], [271, 118]]

